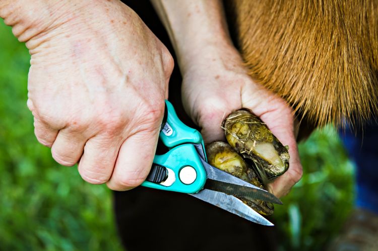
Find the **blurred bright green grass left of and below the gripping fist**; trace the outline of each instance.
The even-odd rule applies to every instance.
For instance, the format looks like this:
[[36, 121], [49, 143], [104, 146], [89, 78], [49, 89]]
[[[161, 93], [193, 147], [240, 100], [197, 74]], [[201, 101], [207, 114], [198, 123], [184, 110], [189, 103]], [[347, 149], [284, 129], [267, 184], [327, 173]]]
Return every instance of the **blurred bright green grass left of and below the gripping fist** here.
[[40, 145], [26, 107], [29, 53], [0, 24], [0, 249], [121, 250], [112, 196]]

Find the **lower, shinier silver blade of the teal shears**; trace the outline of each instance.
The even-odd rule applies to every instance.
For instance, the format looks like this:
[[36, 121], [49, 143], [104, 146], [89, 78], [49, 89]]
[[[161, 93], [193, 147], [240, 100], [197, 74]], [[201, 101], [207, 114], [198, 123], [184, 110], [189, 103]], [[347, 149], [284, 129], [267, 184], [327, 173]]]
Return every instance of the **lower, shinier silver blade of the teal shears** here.
[[241, 200], [232, 195], [216, 192], [208, 189], [203, 189], [197, 194], [191, 194], [192, 196], [206, 201], [214, 206], [227, 210], [230, 213], [236, 214], [244, 219], [252, 222], [256, 222], [261, 225], [274, 226], [272, 222], [261, 216], [255, 210], [245, 205]]

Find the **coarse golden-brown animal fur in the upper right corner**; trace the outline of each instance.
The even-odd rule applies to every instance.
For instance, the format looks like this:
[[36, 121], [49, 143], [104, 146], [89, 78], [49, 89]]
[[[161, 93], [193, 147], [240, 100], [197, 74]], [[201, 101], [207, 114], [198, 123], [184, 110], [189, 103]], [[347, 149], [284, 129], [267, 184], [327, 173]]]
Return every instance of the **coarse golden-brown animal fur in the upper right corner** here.
[[312, 124], [377, 112], [378, 1], [233, 0], [226, 8], [250, 76]]

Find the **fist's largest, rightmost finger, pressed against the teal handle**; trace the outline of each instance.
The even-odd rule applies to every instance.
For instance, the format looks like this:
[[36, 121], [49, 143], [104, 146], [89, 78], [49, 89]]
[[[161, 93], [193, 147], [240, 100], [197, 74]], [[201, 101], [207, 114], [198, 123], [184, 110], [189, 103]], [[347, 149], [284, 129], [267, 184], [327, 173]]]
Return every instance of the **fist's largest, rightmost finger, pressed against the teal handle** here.
[[119, 149], [113, 174], [107, 186], [116, 191], [125, 191], [139, 186], [150, 172], [159, 129], [139, 132], [125, 140]]

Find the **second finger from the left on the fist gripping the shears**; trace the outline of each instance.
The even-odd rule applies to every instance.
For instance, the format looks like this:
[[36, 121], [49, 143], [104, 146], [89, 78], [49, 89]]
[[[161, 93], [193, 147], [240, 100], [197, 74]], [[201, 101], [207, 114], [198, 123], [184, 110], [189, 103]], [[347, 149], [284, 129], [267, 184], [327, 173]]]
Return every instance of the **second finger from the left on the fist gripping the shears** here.
[[86, 138], [70, 128], [61, 129], [51, 147], [51, 155], [56, 162], [66, 166], [76, 164], [81, 155]]

